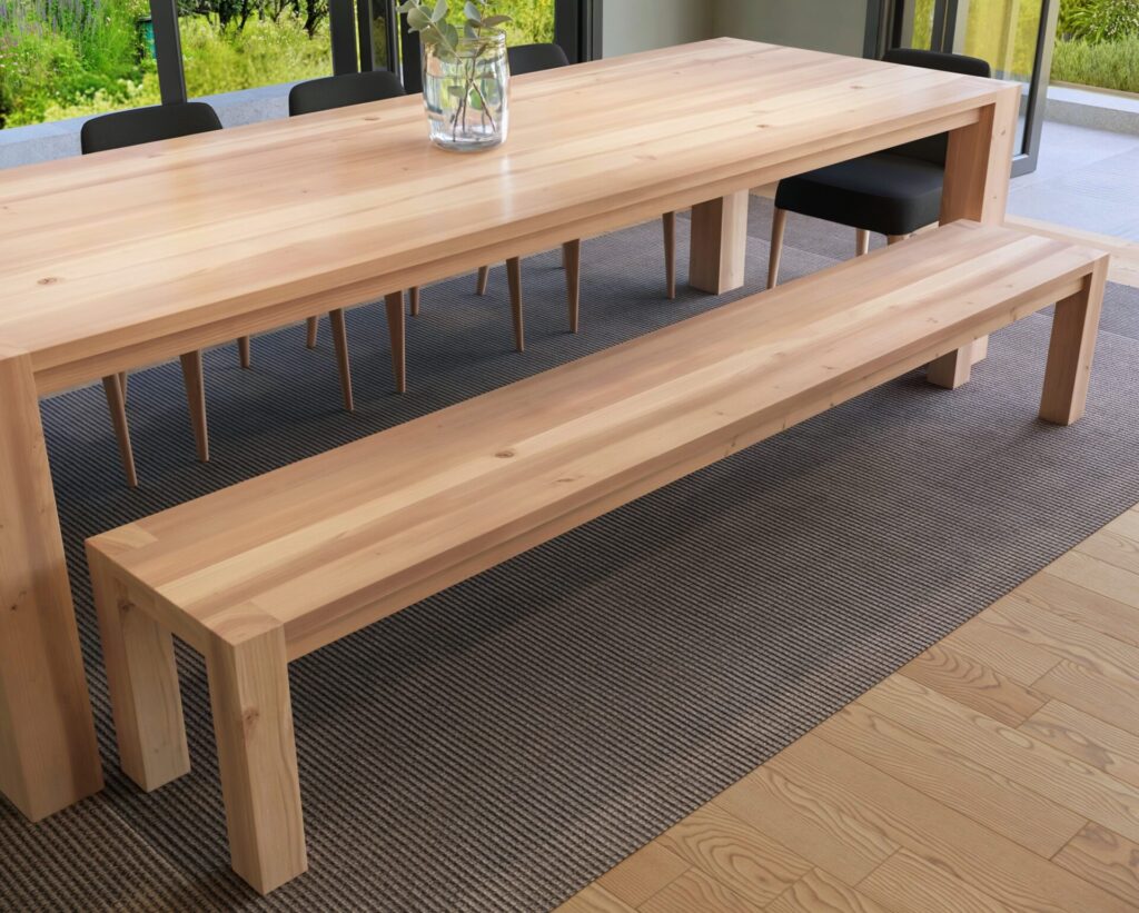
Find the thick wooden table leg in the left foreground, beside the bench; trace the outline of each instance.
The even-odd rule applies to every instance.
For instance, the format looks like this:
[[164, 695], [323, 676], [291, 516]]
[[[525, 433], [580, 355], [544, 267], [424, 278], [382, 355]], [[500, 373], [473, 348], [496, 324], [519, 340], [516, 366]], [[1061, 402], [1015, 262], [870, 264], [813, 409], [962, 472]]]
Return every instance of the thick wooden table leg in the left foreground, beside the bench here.
[[0, 790], [39, 821], [100, 789], [32, 360], [0, 351]]

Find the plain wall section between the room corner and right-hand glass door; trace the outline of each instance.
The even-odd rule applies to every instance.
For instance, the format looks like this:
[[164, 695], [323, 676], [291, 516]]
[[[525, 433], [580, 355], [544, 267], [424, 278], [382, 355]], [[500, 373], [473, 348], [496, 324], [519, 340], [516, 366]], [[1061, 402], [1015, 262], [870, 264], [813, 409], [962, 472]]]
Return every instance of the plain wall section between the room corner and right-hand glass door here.
[[[620, 5], [623, 0], [606, 0]], [[870, 0], [872, 2], [872, 0]], [[712, 6], [712, 0], [702, 0]], [[862, 56], [868, 0], [714, 0], [715, 35]], [[608, 22], [606, 22], [608, 25]]]

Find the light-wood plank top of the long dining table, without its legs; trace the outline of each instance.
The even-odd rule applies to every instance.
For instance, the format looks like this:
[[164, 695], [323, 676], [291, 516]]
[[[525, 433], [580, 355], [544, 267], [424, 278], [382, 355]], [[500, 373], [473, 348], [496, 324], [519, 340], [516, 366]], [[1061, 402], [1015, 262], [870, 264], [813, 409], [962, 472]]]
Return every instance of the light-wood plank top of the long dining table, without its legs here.
[[517, 77], [477, 155], [431, 146], [415, 96], [0, 172], [0, 346], [95, 370], [280, 326], [962, 126], [1005, 90], [718, 39]]

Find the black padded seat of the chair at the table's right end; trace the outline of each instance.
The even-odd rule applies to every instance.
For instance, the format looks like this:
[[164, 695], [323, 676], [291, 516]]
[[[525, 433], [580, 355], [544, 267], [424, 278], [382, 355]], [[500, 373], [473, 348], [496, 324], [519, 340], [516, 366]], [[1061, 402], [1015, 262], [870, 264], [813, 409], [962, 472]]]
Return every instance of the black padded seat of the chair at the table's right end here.
[[780, 181], [776, 206], [882, 235], [909, 235], [937, 221], [943, 178], [941, 165], [876, 153]]

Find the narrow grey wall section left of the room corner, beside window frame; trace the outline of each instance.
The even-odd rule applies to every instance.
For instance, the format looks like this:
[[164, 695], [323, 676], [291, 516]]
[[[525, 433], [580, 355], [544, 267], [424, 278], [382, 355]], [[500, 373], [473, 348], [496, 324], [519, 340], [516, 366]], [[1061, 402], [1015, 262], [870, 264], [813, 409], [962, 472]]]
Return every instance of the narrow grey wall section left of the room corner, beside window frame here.
[[667, 48], [714, 38], [716, 0], [605, 0], [601, 54]]

